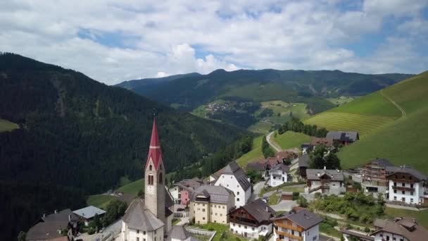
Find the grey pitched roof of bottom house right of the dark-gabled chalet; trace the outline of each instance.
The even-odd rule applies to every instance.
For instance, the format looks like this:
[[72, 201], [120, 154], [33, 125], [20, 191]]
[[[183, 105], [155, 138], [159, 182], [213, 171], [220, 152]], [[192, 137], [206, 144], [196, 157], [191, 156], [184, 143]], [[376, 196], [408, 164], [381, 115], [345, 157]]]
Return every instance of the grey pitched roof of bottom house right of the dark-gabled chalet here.
[[310, 212], [308, 209], [301, 209], [298, 211], [292, 209], [288, 213], [280, 214], [279, 216], [272, 218], [272, 220], [282, 219], [289, 219], [293, 223], [296, 223], [306, 230], [324, 221], [323, 218], [320, 218], [316, 214]]

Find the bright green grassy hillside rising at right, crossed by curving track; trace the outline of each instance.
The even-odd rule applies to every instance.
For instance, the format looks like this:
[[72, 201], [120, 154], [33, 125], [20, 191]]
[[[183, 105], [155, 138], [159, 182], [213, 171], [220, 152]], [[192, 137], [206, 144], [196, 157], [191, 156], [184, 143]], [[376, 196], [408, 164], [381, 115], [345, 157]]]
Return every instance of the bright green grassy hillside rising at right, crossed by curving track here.
[[[318, 123], [329, 126], [329, 129], [363, 130], [364, 138], [354, 144], [344, 147], [338, 153], [344, 168], [359, 166], [370, 159], [384, 157], [391, 159], [396, 165], [408, 164], [428, 174], [426, 149], [428, 143], [428, 72], [416, 75], [413, 78], [383, 89], [382, 92], [361, 97], [349, 104], [344, 104], [331, 111], [326, 111], [317, 116], [325, 116], [325, 121], [313, 121], [314, 116], [307, 123]], [[382, 96], [383, 95], [383, 96]], [[383, 98], [381, 98], [383, 97]], [[377, 101], [374, 101], [377, 100]], [[391, 101], [398, 106], [394, 106]], [[391, 104], [387, 104], [389, 101]], [[394, 110], [395, 108], [395, 110]], [[401, 112], [401, 109], [404, 111]], [[358, 113], [358, 110], [360, 113]], [[369, 118], [391, 118], [382, 125], [376, 123], [363, 123], [360, 120], [354, 122], [363, 123], [360, 128], [353, 121], [343, 125], [343, 121], [337, 117], [336, 111], [341, 111], [342, 118], [346, 113]], [[340, 115], [339, 115], [340, 116]], [[329, 118], [330, 117], [330, 118]], [[386, 120], [386, 119], [384, 119]], [[313, 121], [313, 122], [311, 122]], [[335, 125], [334, 123], [342, 123]], [[379, 126], [378, 126], [379, 125]]]

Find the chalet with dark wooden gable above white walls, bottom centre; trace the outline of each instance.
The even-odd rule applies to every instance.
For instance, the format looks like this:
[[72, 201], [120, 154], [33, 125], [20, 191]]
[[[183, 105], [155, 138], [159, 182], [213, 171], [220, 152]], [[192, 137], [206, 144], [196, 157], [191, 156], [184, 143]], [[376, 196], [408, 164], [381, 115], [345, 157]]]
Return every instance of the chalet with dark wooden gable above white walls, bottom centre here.
[[230, 213], [230, 232], [253, 239], [265, 237], [272, 233], [273, 216], [275, 210], [262, 199], [256, 199]]

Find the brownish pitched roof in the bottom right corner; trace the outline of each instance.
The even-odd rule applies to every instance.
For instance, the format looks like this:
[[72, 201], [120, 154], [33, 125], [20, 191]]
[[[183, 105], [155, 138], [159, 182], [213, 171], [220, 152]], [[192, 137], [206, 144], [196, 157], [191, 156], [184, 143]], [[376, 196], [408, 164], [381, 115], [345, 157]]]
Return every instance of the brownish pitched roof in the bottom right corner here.
[[[380, 221], [375, 221], [375, 223], [381, 223]], [[394, 218], [394, 221], [384, 221], [384, 226], [379, 230], [374, 231], [372, 235], [379, 232], [394, 233], [396, 235], [401, 235], [406, 239], [413, 240], [426, 240], [428, 237], [428, 230], [425, 229], [422, 225], [419, 225], [415, 219], [410, 218]]]

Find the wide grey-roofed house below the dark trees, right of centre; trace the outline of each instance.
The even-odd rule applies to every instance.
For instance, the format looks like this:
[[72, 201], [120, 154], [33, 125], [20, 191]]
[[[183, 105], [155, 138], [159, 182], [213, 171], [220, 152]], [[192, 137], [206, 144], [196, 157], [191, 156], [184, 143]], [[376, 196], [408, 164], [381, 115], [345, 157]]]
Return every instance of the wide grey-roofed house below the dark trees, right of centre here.
[[306, 193], [340, 194], [346, 191], [341, 170], [307, 169]]

